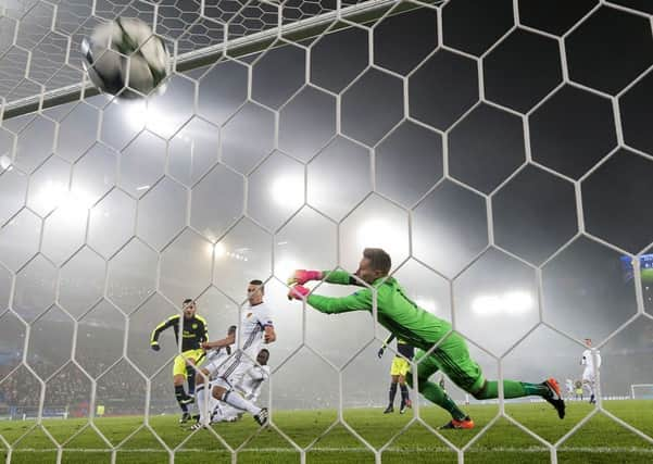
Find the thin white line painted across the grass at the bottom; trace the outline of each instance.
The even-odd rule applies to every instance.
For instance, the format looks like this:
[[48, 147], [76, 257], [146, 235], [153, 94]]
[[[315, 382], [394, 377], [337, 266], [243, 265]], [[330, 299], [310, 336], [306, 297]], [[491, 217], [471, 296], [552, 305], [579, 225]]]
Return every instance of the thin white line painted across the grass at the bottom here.
[[[46, 452], [56, 452], [56, 448], [43, 449], [43, 448], [20, 448], [12, 450], [13, 453], [46, 453]], [[111, 453], [114, 450], [111, 449], [63, 449], [64, 453]], [[118, 453], [167, 453], [167, 451], [159, 448], [150, 448], [150, 449], [118, 449], [115, 450]], [[7, 452], [7, 451], [5, 451]], [[297, 454], [297, 451], [293, 448], [252, 448], [240, 450], [238, 454], [241, 453], [292, 453]], [[344, 448], [344, 447], [314, 447], [306, 451], [306, 453], [372, 453], [367, 448]], [[401, 448], [401, 447], [391, 447], [386, 448], [384, 453], [393, 452], [393, 453], [424, 453], [424, 452], [453, 452], [451, 448], [445, 447], [411, 447], [411, 448]], [[653, 447], [651, 448], [638, 448], [638, 447], [562, 447], [557, 449], [558, 453], [598, 453], [598, 454], [610, 454], [610, 453], [630, 453], [630, 454], [652, 454], [653, 455]], [[211, 450], [211, 449], [202, 449], [202, 448], [189, 448], [189, 449], [180, 449], [177, 450], [175, 454], [181, 453], [219, 453], [219, 454], [230, 454], [229, 451], [226, 450]], [[498, 448], [472, 448], [465, 451], [465, 454], [474, 454], [474, 453], [549, 453], [547, 448], [542, 447], [498, 447]]]

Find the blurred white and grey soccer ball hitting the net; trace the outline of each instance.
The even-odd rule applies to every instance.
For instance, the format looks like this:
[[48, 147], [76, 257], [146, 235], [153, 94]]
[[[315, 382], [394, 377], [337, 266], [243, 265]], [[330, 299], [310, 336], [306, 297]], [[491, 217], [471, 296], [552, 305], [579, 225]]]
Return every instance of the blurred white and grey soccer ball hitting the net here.
[[137, 18], [121, 17], [96, 27], [83, 40], [81, 52], [95, 86], [122, 98], [163, 91], [171, 71], [165, 43]]

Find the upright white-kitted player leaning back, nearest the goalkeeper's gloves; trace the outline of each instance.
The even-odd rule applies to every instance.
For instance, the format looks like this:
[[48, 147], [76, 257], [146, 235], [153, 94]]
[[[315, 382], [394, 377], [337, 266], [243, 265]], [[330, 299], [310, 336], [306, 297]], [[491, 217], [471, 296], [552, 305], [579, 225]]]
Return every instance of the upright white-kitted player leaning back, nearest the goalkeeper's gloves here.
[[[216, 400], [223, 401], [238, 410], [251, 413], [259, 425], [267, 423], [267, 409], [259, 407], [252, 401], [241, 397], [235, 390], [244, 374], [254, 365], [263, 343], [276, 340], [271, 311], [263, 302], [265, 288], [261, 280], [252, 280], [248, 285], [247, 294], [249, 304], [242, 311], [240, 321], [240, 337], [238, 348], [224, 361], [202, 365], [202, 372], [211, 378], [211, 394]], [[205, 350], [221, 348], [228, 343], [227, 339], [209, 341], [202, 344]], [[200, 422], [193, 428], [209, 425], [210, 417], [203, 414], [208, 411], [205, 404], [205, 389], [196, 390], [198, 407], [202, 412]]]

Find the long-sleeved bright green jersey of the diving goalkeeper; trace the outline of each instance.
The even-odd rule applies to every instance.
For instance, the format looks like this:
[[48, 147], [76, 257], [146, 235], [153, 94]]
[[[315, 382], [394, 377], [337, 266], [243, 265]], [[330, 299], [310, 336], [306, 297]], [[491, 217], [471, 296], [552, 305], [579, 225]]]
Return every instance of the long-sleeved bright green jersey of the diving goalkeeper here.
[[[355, 280], [344, 271], [325, 271], [326, 281], [330, 284], [352, 285]], [[398, 338], [413, 347], [429, 350], [442, 337], [451, 331], [451, 324], [423, 310], [409, 297], [393, 277], [382, 277], [374, 281], [376, 289], [377, 318]], [[342, 298], [309, 296], [306, 302], [326, 314], [350, 311], [369, 311], [372, 313], [374, 292], [365, 287], [353, 294]]]

